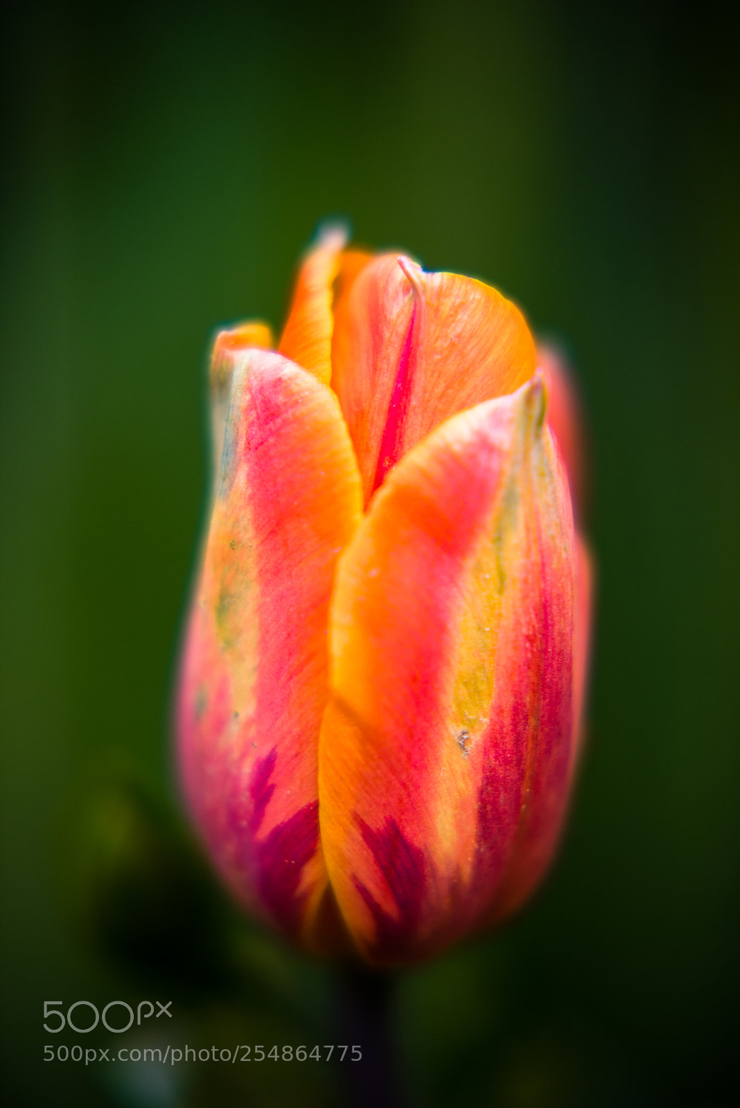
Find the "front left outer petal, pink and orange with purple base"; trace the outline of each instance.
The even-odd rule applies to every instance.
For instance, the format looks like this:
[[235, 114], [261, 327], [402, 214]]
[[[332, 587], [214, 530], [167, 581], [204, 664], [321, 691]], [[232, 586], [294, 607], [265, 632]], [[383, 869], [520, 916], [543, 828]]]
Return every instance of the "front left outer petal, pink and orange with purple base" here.
[[178, 701], [185, 791], [239, 897], [311, 944], [327, 888], [317, 743], [339, 552], [360, 517], [330, 390], [279, 355], [235, 359]]

